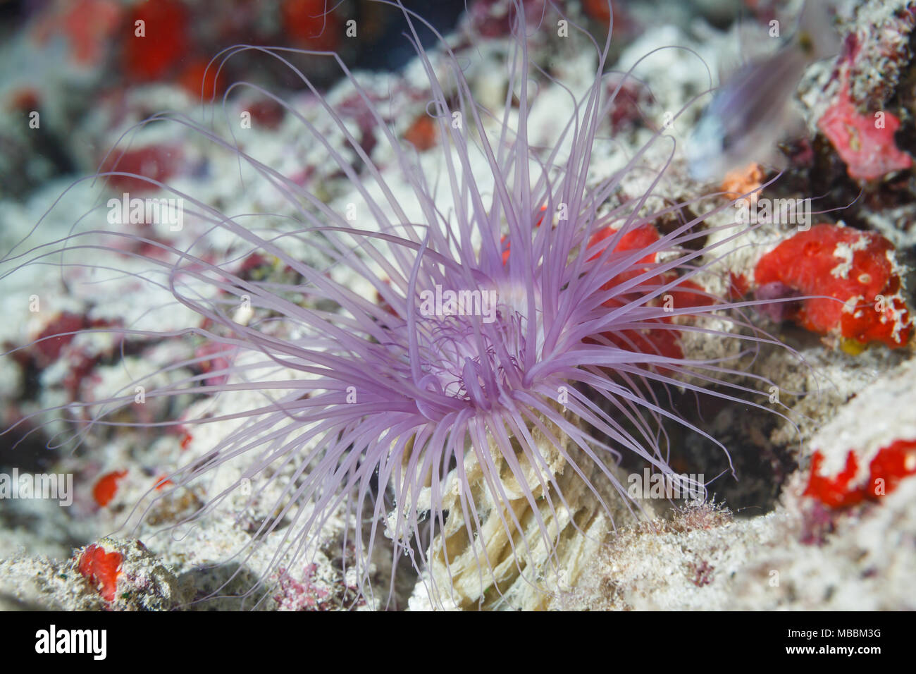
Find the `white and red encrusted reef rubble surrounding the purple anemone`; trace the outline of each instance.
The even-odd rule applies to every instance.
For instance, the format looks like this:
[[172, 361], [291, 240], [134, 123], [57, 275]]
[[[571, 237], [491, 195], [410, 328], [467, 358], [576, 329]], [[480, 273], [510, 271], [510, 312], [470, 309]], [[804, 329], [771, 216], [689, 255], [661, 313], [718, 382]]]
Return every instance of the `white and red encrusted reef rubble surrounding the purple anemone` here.
[[[437, 153], [447, 143], [433, 121], [438, 111], [431, 105], [430, 74], [405, 39], [410, 24], [404, 12], [371, 0], [0, 2], [0, 608], [916, 608], [916, 3], [824, 3], [823, 38], [807, 32], [799, 19], [805, 3], [794, 0], [611, 5], [613, 31], [599, 81], [607, 86], [604, 94], [613, 95], [608, 114], [596, 122], [589, 184], [622, 175], [598, 206], [608, 210], [643, 195], [660, 211], [686, 204], [651, 222], [651, 231], [643, 231], [648, 238], [615, 252], [651, 247], [696, 218], [695, 231], [705, 234], [678, 241], [682, 249], [703, 251], [697, 263], [703, 274], [674, 285], [675, 293], [680, 288], [694, 300], [699, 293], [747, 303], [738, 308], [747, 310], [749, 324], [779, 344], [761, 344], [748, 355], [718, 338], [737, 328], [712, 314], [706, 323], [690, 323], [690, 315], [681, 323], [647, 319], [617, 341], [605, 339], [669, 359], [743, 359], [740, 371], [713, 381], [685, 377], [679, 382], [687, 385], [647, 386], [653, 404], [687, 422], [660, 420], [649, 442], [667, 447], [668, 472], [700, 473], [702, 498], [672, 495], [671, 483], [661, 477], [665, 470], [625, 452], [608, 470], [624, 491], [638, 486], [629, 492], [637, 507], [623, 501], [589, 505], [589, 494], [575, 492], [581, 501], [566, 505], [587, 517], [577, 522], [573, 514], [564, 519], [554, 512], [557, 520], [543, 525], [556, 527], [551, 536], [558, 550], [542, 553], [542, 587], [519, 581], [523, 570], [511, 568], [533, 568], [531, 556], [541, 553], [532, 552], [524, 565], [496, 569], [504, 574], [493, 580], [496, 591], [455, 581], [443, 600], [427, 591], [452, 582], [442, 580], [449, 574], [435, 569], [432, 555], [421, 564], [414, 549], [407, 561], [392, 561], [391, 550], [399, 548], [390, 522], [385, 536], [379, 526], [375, 541], [385, 549], [367, 552], [371, 560], [365, 562], [365, 576], [385, 591], [367, 597], [363, 571], [354, 570], [362, 568], [361, 553], [346, 509], [322, 520], [307, 559], [296, 558], [294, 566], [278, 562], [270, 546], [238, 557], [283, 510], [273, 508], [272, 499], [285, 503], [284, 485], [296, 483], [299, 473], [271, 474], [263, 503], [253, 504], [245, 492], [245, 467], [228, 463], [208, 473], [208, 481], [157, 499], [179, 465], [205, 465], [233, 427], [181, 425], [189, 410], [231, 415], [261, 403], [207, 388], [150, 398], [141, 411], [120, 410], [115, 420], [125, 425], [116, 428], [91, 427], [88, 416], [81, 419], [69, 406], [99, 403], [147, 370], [156, 386], [169, 386], [178, 376], [175, 363], [182, 376], [215, 388], [243, 366], [224, 345], [199, 336], [180, 343], [118, 337], [127, 317], [138, 326], [150, 320], [153, 325], [142, 329], [163, 335], [210, 326], [187, 307], [157, 314], [158, 295], [126, 276], [94, 282], [76, 270], [95, 261], [81, 253], [61, 253], [47, 264], [25, 264], [21, 257], [96, 227], [94, 222], [104, 226], [85, 214], [107, 203], [110, 215], [110, 199], [120, 209], [124, 195], [126, 213], [128, 194], [165, 196], [158, 183], [220, 213], [256, 215], [257, 231], [282, 227], [299, 207], [295, 197], [271, 189], [269, 171], [344, 213], [359, 198], [354, 182], [370, 182], [367, 164], [385, 176], [400, 171], [400, 150], [389, 147], [382, 126], [420, 157], [436, 183], [437, 208], [450, 213], [457, 197], [441, 201], [448, 181], [434, 176], [444, 165]], [[524, 16], [526, 57], [537, 65], [529, 72], [534, 103], [525, 120], [528, 142], [537, 149], [562, 146], [560, 120], [579, 113], [564, 92], [584, 95], [594, 84], [597, 59], [587, 36], [604, 43], [611, 27], [608, 3], [411, 0], [403, 7], [445, 36], [475, 105], [488, 116], [519, 108], [510, 91], [518, 82], [507, 63], [517, 58], [518, 17]], [[563, 35], [558, 17], [582, 30]], [[431, 29], [416, 29], [423, 49], [442, 54]], [[822, 39], [823, 53], [819, 44], [811, 46]], [[217, 58], [240, 44], [252, 49]], [[282, 62], [257, 48], [291, 51], [280, 52]], [[336, 52], [345, 70], [294, 50]], [[234, 86], [240, 82], [245, 86]], [[457, 89], [443, 96], [457, 101]], [[291, 110], [312, 125], [310, 137]], [[169, 111], [168, 120], [157, 117], [162, 111]], [[235, 123], [240, 117], [241, 127]], [[232, 138], [239, 152], [269, 171], [243, 169], [240, 154], [207, 142], [202, 129], [224, 118], [233, 124], [223, 122], [220, 128], [230, 131], [221, 138]], [[176, 119], [200, 120], [200, 126]], [[642, 151], [666, 134], [676, 142]], [[315, 140], [322, 137], [346, 161], [332, 159]], [[482, 191], [492, 193], [498, 176], [483, 175], [486, 169]], [[96, 171], [106, 176], [82, 180]], [[393, 200], [414, 215], [416, 196], [397, 177], [391, 184]], [[795, 219], [786, 220], [786, 208]], [[706, 212], [711, 215], [701, 217]], [[539, 217], [530, 223], [532, 232]], [[158, 260], [159, 243], [196, 246], [195, 254], [220, 260], [215, 264], [231, 271], [234, 281], [283, 290], [301, 282], [266, 249], [240, 246], [219, 227], [209, 231], [212, 223], [192, 219], [182, 227], [163, 217], [155, 227], [131, 229], [134, 238], [111, 249]], [[736, 222], [755, 227], [725, 245], [723, 232]], [[507, 238], [500, 243], [508, 256]], [[721, 248], [706, 252], [712, 246]], [[317, 248], [286, 252], [315, 270], [330, 267]], [[640, 258], [638, 265], [668, 260], [664, 251], [649, 252], [652, 260]], [[142, 265], [131, 271], [145, 273]], [[327, 273], [397, 315], [356, 274]], [[667, 327], [659, 331], [651, 321]], [[687, 324], [700, 329], [678, 329]], [[282, 337], [295, 337], [295, 328], [287, 329]], [[713, 394], [698, 395], [698, 388]], [[742, 403], [741, 396], [751, 394], [759, 404]], [[764, 409], [768, 405], [780, 414]], [[569, 480], [572, 473], [556, 475]], [[392, 490], [377, 482], [374, 492]], [[239, 484], [242, 492], [235, 489]], [[218, 508], [194, 515], [224, 490], [229, 494]], [[563, 490], [574, 492], [565, 483]], [[381, 522], [388, 509], [398, 508], [393, 496], [378, 498], [386, 503], [386, 514], [376, 513]], [[519, 518], [536, 520], [537, 508], [531, 511]], [[427, 512], [434, 514], [436, 505]], [[189, 525], [180, 536], [154, 535], [179, 524]], [[474, 542], [465, 543], [477, 559]], [[414, 547], [426, 545], [437, 544]], [[442, 554], [448, 567], [462, 553]], [[486, 554], [498, 566], [494, 553]], [[514, 547], [503, 549], [499, 558], [511, 561], [517, 554]], [[559, 566], [545, 561], [553, 557], [561, 559]], [[258, 583], [267, 590], [245, 596]], [[217, 592], [235, 596], [213, 598]]]

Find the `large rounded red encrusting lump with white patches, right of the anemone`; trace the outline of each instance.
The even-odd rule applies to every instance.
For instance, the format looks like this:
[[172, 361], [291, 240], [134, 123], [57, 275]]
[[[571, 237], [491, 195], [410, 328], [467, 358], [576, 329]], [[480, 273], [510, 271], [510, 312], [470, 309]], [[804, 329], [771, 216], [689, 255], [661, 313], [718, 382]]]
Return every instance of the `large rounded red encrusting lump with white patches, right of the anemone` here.
[[758, 289], [776, 284], [805, 296], [788, 310], [805, 329], [858, 345], [878, 341], [900, 348], [912, 329], [901, 273], [886, 238], [823, 224], [798, 231], [763, 255], [754, 282]]

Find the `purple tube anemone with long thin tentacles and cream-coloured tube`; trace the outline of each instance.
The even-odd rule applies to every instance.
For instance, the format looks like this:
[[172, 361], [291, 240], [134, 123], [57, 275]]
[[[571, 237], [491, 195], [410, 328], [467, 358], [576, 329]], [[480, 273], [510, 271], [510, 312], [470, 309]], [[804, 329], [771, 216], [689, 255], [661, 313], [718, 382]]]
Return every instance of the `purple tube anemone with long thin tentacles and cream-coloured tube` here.
[[[517, 5], [508, 86], [496, 110], [474, 101], [463, 63], [444, 39], [435, 51], [420, 46], [414, 27], [424, 22], [401, 8], [439, 135], [440, 147], [428, 155], [435, 157], [432, 172], [392, 130], [377, 92], [334, 54], [250, 46], [224, 53], [225, 60], [261, 52], [300, 79], [311, 92], [309, 110], [245, 83], [230, 88], [224, 106], [238, 87], [283, 105], [309, 146], [346, 177], [350, 201], [329, 197], [320, 185], [302, 187], [257, 160], [232, 127], [218, 133], [178, 115], [147, 120], [144, 126], [187, 127], [228, 151], [247, 171], [245, 189], [271, 191], [290, 215], [227, 215], [174, 184], [117, 171], [116, 164], [100, 171], [97, 178], [144, 180], [182, 199], [186, 227], [200, 233], [179, 246], [143, 227], [97, 227], [96, 206], [79, 223], [88, 224], [85, 231], [14, 250], [5, 266], [21, 272], [49, 263], [71, 281], [75, 272], [93, 282], [107, 275], [114, 293], [151, 289], [163, 299], [142, 307], [146, 319], [183, 312], [193, 321], [151, 329], [125, 319], [79, 332], [114, 335], [135, 350], [154, 343], [198, 350], [122, 382], [104, 399], [41, 413], [55, 412], [53, 422], [36, 413], [22, 423], [67, 420], [72, 436], [56, 443], [108, 427], [164, 432], [180, 425], [197, 435], [212, 426], [219, 432], [207, 436], [202, 457], [170, 470], [170, 484], [150, 492], [153, 503], [241, 460], [237, 477], [208, 490], [182, 522], [245, 490], [248, 505], [269, 501], [261, 509], [270, 516], [249, 527], [243, 560], [269, 539], [271, 568], [289, 568], [313, 554], [322, 527], [339, 517], [366, 598], [374, 601], [381, 590], [370, 562], [382, 548], [390, 550], [392, 569], [409, 556], [432, 603], [492, 606], [511, 602], [519, 583], [549, 589], [550, 573], [562, 575], [564, 537], [597, 536], [595, 518], [613, 526], [615, 514], [636, 510], [616, 469], [622, 454], [673, 478], [666, 423], [714, 441], [660, 391], [705, 393], [715, 384], [710, 394], [769, 409], [757, 388], [729, 379], [750, 375], [726, 359], [682, 357], [664, 346], [686, 335], [744, 340], [747, 348], [732, 351], [736, 360], [772, 342], [742, 317], [751, 303], [729, 303], [690, 282], [753, 227], [701, 227], [733, 208], [725, 198], [704, 207], [700, 198], [653, 205], [674, 156], [664, 129], [626, 166], [594, 179], [595, 138], [627, 81], [608, 85], [609, 37], [592, 43], [594, 81], [583, 94], [568, 92], [573, 112], [560, 121], [555, 144], [529, 141], [538, 95], [529, 82], [552, 78], [529, 61], [525, 31], [556, 28], [540, 11], [526, 22]], [[579, 30], [573, 22], [569, 28]], [[349, 105], [360, 110], [358, 125], [294, 65], [301, 53], [340, 68], [353, 94]], [[361, 129], [372, 129], [376, 149], [366, 149]], [[664, 143], [668, 160], [648, 166], [656, 156], [650, 150]], [[618, 199], [635, 171], [649, 176], [644, 193]], [[676, 224], [627, 246], [662, 220]], [[703, 243], [711, 233], [714, 242]], [[221, 257], [213, 254], [217, 240]], [[272, 271], [250, 273], [244, 260], [252, 256], [270, 260]], [[705, 315], [718, 327], [703, 324]], [[52, 337], [60, 335], [42, 338]], [[146, 404], [162, 403], [163, 418], [137, 414], [138, 387]], [[191, 395], [235, 393], [260, 403], [220, 414], [188, 406]]]

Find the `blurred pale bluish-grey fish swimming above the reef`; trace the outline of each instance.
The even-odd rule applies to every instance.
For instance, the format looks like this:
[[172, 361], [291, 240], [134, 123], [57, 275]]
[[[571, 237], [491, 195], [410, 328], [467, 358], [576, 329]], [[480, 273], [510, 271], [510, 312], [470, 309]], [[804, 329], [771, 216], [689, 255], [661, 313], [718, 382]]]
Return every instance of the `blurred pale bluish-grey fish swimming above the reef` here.
[[775, 144], [791, 126], [791, 97], [802, 73], [839, 51], [828, 8], [823, 0], [806, 0], [792, 39], [720, 86], [687, 140], [693, 179], [720, 179], [752, 161], [774, 159]]

